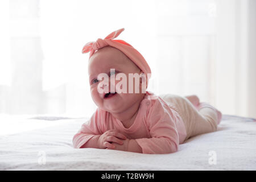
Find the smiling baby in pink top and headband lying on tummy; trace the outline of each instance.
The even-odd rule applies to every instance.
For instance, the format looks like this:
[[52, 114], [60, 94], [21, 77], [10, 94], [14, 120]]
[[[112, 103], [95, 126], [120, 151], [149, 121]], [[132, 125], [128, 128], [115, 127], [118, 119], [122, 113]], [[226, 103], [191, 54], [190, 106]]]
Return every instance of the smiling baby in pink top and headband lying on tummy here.
[[[73, 146], [167, 154], [176, 152], [179, 144], [190, 137], [216, 131], [221, 112], [200, 102], [195, 95], [156, 96], [152, 92], [143, 92], [142, 82], [145, 80], [142, 77], [139, 84], [129, 80], [127, 85], [122, 85], [125, 89], [126, 86], [127, 89], [132, 88], [133, 92], [117, 92], [117, 88], [109, 91], [113, 84], [121, 82], [117, 79], [118, 75], [129, 77], [131, 73], [146, 75], [147, 88], [151, 74], [141, 53], [123, 40], [113, 40], [123, 30], [114, 31], [105, 39], [89, 42], [82, 50], [83, 53], [90, 51], [90, 92], [98, 108], [73, 137]], [[102, 73], [114, 77], [114, 83], [111, 79], [100, 81]], [[139, 92], [134, 93], [135, 89]]]

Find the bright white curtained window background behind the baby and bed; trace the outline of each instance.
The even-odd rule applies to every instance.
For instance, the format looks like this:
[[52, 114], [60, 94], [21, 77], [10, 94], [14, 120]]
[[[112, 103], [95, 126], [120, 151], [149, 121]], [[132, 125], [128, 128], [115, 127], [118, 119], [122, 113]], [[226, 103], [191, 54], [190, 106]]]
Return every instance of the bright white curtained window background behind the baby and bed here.
[[85, 43], [125, 28], [152, 70], [148, 90], [197, 94], [256, 118], [255, 0], [0, 2], [0, 113], [96, 110]]

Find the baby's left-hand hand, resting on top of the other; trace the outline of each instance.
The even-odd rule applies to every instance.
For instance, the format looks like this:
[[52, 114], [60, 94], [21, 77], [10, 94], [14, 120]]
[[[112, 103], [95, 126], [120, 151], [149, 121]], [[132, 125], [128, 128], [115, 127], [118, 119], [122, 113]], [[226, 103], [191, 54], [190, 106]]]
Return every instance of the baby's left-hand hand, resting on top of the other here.
[[125, 140], [125, 135], [119, 133], [117, 130], [108, 130], [104, 134], [100, 136], [98, 139], [98, 147], [99, 148], [109, 148], [114, 149], [115, 146], [112, 143], [117, 143], [119, 145], [123, 144], [123, 140]]

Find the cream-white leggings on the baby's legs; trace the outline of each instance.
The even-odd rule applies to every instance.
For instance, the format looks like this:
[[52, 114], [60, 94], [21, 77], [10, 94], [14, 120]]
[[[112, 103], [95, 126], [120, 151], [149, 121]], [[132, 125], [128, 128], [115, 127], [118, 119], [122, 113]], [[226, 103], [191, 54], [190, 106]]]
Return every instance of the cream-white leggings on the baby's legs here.
[[[183, 119], [187, 131], [187, 140], [196, 135], [217, 130], [218, 118], [216, 110], [209, 104], [204, 104], [199, 110], [185, 98], [173, 94], [162, 94], [161, 97]], [[184, 141], [185, 141], [184, 140]]]

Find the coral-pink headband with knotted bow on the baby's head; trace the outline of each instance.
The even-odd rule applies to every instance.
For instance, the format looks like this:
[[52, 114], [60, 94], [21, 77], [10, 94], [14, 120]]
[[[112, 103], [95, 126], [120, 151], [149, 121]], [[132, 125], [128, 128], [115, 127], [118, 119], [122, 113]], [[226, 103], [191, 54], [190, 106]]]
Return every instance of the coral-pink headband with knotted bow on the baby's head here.
[[[141, 53], [139, 53], [135, 48], [133, 48], [133, 46], [131, 46], [123, 40], [112, 40], [116, 38], [119, 34], [121, 34], [123, 30], [125, 30], [125, 28], [121, 28], [117, 31], [112, 32], [111, 34], [106, 36], [104, 40], [97, 39], [96, 42], [88, 42], [87, 44], [85, 44], [84, 48], [82, 48], [82, 53], [87, 53], [90, 51], [90, 59], [90, 57], [95, 53], [96, 50], [105, 46], [112, 46], [114, 48], [119, 49], [119, 51], [122, 51], [144, 73], [151, 73], [151, 69], [147, 64], [147, 61], [144, 59]], [[150, 78], [150, 75], [148, 76], [148, 78]]]

